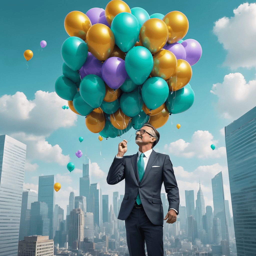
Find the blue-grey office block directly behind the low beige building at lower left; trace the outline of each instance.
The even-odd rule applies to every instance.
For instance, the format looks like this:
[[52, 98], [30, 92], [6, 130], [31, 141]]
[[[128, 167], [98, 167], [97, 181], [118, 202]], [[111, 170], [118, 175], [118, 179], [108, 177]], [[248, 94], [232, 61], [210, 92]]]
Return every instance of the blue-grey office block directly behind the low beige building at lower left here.
[[44, 202], [31, 203], [29, 236], [49, 236], [50, 219], [48, 218], [48, 206]]

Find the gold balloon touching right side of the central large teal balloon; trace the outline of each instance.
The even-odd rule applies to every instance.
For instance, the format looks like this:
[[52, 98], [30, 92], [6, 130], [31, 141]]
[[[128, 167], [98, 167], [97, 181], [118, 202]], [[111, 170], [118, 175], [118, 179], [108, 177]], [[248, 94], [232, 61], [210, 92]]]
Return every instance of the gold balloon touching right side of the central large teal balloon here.
[[154, 66], [151, 71], [153, 77], [161, 77], [164, 80], [170, 78], [177, 68], [177, 59], [175, 55], [165, 49], [162, 49], [153, 56]]

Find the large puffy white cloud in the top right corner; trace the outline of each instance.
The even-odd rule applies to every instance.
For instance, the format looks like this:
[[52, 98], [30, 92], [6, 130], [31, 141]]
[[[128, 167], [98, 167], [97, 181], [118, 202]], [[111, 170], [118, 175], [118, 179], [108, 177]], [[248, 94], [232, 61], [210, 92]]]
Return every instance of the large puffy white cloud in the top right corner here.
[[231, 69], [256, 67], [256, 4], [241, 4], [233, 13], [234, 17], [219, 19], [213, 28], [228, 51], [224, 64]]

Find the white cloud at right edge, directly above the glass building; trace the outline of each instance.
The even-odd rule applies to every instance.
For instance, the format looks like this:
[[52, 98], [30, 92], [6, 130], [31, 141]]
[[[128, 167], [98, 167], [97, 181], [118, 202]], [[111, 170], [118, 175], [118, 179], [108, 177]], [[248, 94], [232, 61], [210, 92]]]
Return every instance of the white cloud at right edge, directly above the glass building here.
[[213, 84], [210, 92], [218, 96], [215, 108], [227, 119], [237, 119], [256, 105], [256, 80], [246, 83], [241, 73], [226, 75], [223, 83]]

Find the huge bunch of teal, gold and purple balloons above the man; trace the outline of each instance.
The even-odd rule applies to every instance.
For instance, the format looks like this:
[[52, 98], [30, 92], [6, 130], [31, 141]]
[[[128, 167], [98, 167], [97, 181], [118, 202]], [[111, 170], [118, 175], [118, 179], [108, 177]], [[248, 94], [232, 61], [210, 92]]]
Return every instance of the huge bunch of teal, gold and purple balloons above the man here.
[[55, 91], [86, 116], [91, 132], [114, 138], [145, 122], [159, 128], [192, 106], [188, 82], [202, 48], [182, 40], [188, 31], [183, 13], [149, 16], [112, 0], [105, 10], [68, 13], [64, 26], [70, 37], [61, 46], [63, 75]]

